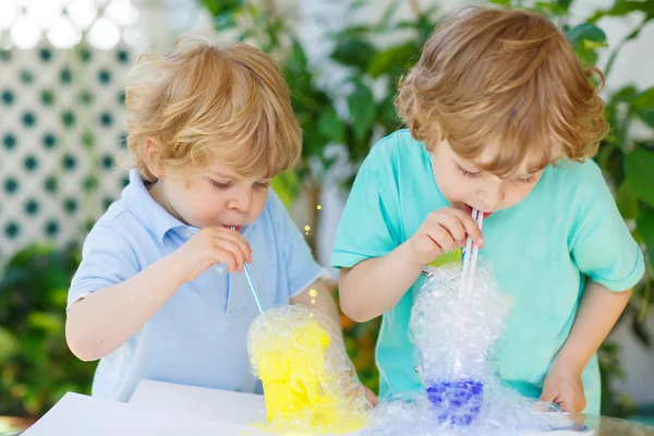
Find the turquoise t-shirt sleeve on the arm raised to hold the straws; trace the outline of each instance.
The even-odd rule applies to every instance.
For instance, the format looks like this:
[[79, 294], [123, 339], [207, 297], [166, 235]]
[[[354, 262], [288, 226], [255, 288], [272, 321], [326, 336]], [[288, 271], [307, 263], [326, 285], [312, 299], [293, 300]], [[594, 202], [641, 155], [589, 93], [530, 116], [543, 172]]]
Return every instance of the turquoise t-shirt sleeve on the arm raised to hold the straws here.
[[379, 145], [363, 161], [346, 202], [331, 251], [336, 268], [384, 256], [400, 244], [392, 164]]

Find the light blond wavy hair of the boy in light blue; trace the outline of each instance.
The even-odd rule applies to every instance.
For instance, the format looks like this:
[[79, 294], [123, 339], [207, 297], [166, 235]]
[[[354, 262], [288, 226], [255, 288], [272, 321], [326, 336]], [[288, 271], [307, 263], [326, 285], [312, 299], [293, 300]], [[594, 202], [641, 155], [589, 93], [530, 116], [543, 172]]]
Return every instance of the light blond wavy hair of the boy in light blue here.
[[180, 36], [167, 55], [138, 58], [126, 87], [128, 147], [147, 181], [145, 147], [162, 144], [158, 164], [205, 166], [209, 155], [244, 177], [293, 167], [302, 134], [283, 77], [263, 51], [213, 34]]

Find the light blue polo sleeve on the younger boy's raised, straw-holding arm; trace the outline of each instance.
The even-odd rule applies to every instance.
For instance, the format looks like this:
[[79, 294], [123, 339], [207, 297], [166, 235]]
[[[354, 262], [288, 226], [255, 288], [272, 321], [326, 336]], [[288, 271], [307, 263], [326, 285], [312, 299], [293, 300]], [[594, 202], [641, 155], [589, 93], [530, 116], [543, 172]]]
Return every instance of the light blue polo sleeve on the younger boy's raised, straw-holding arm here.
[[66, 313], [75, 301], [125, 281], [138, 271], [128, 240], [110, 227], [96, 225], [84, 241], [82, 262], [69, 289]]

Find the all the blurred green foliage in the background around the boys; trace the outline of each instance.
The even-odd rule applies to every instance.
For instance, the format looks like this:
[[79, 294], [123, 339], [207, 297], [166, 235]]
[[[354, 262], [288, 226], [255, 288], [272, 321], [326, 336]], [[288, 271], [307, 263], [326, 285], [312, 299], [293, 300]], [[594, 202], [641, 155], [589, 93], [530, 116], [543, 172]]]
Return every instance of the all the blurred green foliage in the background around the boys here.
[[[329, 60], [347, 72], [341, 88], [349, 93], [340, 95], [318, 86], [318, 74], [292, 23], [275, 10], [272, 1], [264, 1], [263, 7], [240, 0], [198, 1], [215, 16], [219, 29], [235, 31], [239, 38], [269, 52], [288, 81], [304, 134], [304, 148], [298, 169], [274, 181], [287, 206], [301, 194], [312, 199], [318, 197], [322, 174], [335, 161], [325, 153], [328, 145], [343, 145], [355, 169], [374, 141], [401, 126], [392, 104], [398, 80], [419, 59], [422, 45], [437, 23], [436, 10], [421, 11], [416, 2], [409, 2], [413, 8], [412, 19], [393, 20], [396, 1], [378, 22], [352, 24], [329, 35], [334, 38]], [[594, 64], [600, 50], [609, 50], [607, 64], [600, 65], [607, 76], [625, 44], [634, 39], [654, 19], [652, 1], [616, 0], [610, 8], [595, 11], [572, 25], [569, 13], [572, 2], [537, 2], [535, 8], [566, 33], [582, 63]], [[507, 2], [501, 0], [501, 3]], [[352, 2], [350, 15], [355, 16], [363, 5], [362, 1]], [[520, 2], [508, 5], [524, 7]], [[598, 21], [631, 13], [640, 22], [623, 40], [607, 47]], [[380, 40], [391, 44], [383, 45]], [[614, 189], [622, 216], [632, 225], [634, 238], [649, 249], [645, 250], [647, 277], [637, 287], [620, 322], [629, 323], [635, 336], [649, 344], [651, 338], [641, 320], [649, 311], [654, 268], [654, 256], [649, 254], [654, 253], [654, 136], [635, 137], [633, 126], [643, 123], [654, 128], [654, 87], [639, 89], [629, 85], [609, 90], [606, 117], [611, 132], [603, 142], [596, 161]], [[312, 169], [316, 162], [323, 172]], [[317, 221], [319, 216], [315, 213]], [[65, 391], [89, 391], [95, 364], [74, 358], [64, 338], [66, 290], [78, 261], [75, 247], [29, 246], [4, 264], [0, 276], [0, 415], [37, 416]], [[348, 352], [361, 379], [374, 391], [378, 387], [374, 347], [379, 320], [356, 324], [344, 316], [341, 318]], [[611, 380], [623, 376], [618, 350], [619, 344], [607, 342], [600, 352], [604, 389], [602, 413], [623, 416], [630, 412], [631, 404], [611, 386]]]

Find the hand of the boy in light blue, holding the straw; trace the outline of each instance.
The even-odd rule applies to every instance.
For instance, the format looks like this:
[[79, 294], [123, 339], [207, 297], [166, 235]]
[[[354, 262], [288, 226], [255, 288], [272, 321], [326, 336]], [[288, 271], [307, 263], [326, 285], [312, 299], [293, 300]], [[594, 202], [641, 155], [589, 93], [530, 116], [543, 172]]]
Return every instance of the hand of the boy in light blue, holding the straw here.
[[194, 280], [216, 264], [226, 264], [229, 272], [242, 271], [252, 262], [252, 249], [235, 230], [205, 227], [173, 253], [181, 266], [183, 281]]

